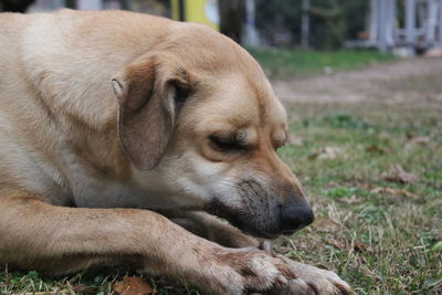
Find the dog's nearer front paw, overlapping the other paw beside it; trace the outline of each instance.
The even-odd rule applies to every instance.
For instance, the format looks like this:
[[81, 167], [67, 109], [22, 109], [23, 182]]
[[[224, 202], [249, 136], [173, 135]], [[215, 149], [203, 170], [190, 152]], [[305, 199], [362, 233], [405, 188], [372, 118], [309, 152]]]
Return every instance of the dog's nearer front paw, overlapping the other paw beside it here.
[[206, 289], [211, 294], [265, 292], [295, 278], [295, 273], [281, 257], [256, 249], [219, 249], [204, 273], [208, 275], [204, 281], [210, 281]]

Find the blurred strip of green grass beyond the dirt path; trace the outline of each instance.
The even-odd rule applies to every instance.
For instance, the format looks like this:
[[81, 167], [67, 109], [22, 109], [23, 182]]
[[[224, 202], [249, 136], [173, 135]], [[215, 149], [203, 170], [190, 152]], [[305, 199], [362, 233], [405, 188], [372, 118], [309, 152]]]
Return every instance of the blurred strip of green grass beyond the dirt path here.
[[305, 51], [283, 49], [249, 49], [274, 78], [305, 77], [323, 72], [355, 70], [379, 62], [392, 61], [391, 54], [368, 50]]

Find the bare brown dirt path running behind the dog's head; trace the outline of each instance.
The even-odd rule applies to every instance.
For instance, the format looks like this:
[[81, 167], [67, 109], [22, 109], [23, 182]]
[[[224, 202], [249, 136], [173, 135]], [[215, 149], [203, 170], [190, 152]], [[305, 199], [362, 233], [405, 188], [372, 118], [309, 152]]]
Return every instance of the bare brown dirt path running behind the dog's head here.
[[428, 104], [442, 109], [442, 59], [413, 57], [359, 71], [305, 80], [272, 81], [277, 97], [292, 103]]

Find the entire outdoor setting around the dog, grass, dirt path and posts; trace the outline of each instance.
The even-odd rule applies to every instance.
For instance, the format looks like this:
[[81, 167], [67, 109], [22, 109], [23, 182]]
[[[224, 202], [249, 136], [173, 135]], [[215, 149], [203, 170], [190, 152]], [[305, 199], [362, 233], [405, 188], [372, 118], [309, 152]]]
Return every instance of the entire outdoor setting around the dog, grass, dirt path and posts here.
[[[63, 7], [202, 22], [242, 44], [287, 108], [278, 154], [316, 214], [274, 251], [357, 294], [442, 294], [442, 0], [0, 0], [3, 11]], [[117, 294], [124, 274], [6, 270], [0, 294]], [[145, 278], [156, 294], [199, 294]]]

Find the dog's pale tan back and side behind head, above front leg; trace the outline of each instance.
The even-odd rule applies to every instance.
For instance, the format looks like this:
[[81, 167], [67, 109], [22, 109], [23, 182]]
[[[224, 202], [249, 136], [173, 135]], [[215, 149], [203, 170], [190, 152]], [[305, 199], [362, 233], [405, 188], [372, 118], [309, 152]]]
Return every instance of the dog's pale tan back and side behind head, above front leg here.
[[157, 22], [170, 21], [112, 11], [0, 13], [0, 192], [57, 196], [54, 203], [72, 193], [71, 147], [87, 150], [90, 129], [110, 128], [112, 76], [156, 39], [149, 28]]

